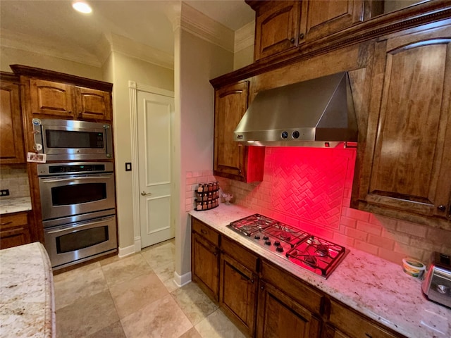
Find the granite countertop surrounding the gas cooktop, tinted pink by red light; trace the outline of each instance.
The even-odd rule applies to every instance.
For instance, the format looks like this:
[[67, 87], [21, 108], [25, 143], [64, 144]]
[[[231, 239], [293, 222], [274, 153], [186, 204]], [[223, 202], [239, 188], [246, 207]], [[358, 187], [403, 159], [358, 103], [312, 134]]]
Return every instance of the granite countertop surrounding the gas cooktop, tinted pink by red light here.
[[421, 280], [404, 273], [401, 265], [350, 249], [336, 270], [324, 280], [226, 227], [254, 213], [225, 204], [209, 211], [190, 211], [190, 215], [218, 232], [396, 332], [412, 338], [451, 337], [451, 309], [428, 301], [421, 292]]

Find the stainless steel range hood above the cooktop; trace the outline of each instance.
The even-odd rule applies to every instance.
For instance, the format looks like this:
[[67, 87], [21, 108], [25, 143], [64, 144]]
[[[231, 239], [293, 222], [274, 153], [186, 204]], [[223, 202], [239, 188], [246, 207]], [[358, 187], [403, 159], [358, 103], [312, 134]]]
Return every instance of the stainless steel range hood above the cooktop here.
[[254, 146], [334, 147], [357, 142], [349, 75], [338, 73], [259, 92], [234, 139]]

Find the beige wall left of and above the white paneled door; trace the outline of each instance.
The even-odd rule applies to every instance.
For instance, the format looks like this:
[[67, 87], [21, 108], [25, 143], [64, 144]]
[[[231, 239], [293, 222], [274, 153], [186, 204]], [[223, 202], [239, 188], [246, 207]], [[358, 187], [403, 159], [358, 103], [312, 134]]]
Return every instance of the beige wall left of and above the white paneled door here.
[[[174, 90], [174, 72], [131, 56], [113, 52], [104, 64], [104, 77], [113, 82], [114, 153], [116, 158], [116, 198], [118, 206], [119, 248], [135, 244], [133, 233], [132, 172], [125, 162], [132, 161], [130, 94], [128, 82]], [[132, 163], [137, 170], [137, 163]]]

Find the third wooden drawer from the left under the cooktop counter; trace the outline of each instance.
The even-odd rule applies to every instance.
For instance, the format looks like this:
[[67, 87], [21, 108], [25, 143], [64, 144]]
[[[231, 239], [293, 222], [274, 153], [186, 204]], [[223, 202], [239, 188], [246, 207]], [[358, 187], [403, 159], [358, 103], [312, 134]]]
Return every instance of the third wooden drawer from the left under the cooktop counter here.
[[323, 313], [324, 296], [286, 271], [263, 261], [261, 264], [261, 278], [276, 286], [310, 311]]

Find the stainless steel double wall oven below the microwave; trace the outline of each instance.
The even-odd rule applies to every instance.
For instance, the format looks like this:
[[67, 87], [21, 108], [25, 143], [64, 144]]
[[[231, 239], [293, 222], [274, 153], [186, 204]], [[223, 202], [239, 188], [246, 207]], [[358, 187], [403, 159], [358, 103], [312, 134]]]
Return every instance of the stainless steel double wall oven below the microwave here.
[[113, 163], [37, 165], [45, 246], [54, 270], [116, 251]]

